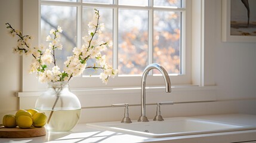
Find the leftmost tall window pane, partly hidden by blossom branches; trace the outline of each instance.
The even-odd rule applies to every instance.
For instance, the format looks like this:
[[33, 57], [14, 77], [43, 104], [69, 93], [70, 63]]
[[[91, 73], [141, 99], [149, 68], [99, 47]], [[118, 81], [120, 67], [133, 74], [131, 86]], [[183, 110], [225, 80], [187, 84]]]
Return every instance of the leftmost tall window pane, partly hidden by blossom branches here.
[[63, 70], [63, 63], [67, 56], [72, 55], [72, 50], [76, 46], [76, 7], [41, 6], [41, 43], [47, 48], [49, 42], [46, 41], [51, 29], [63, 29], [61, 33], [62, 50], [55, 50], [57, 65]]

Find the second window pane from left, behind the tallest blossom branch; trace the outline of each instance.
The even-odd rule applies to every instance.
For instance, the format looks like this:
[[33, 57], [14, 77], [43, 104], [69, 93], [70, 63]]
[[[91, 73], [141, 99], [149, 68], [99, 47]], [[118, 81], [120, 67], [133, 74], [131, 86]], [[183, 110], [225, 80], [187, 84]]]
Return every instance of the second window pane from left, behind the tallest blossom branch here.
[[[104, 23], [104, 30], [100, 35], [94, 36], [97, 41], [110, 42], [113, 43], [113, 9], [110, 8], [96, 8], [100, 11], [100, 23]], [[83, 8], [82, 17], [82, 37], [88, 35], [88, 23], [92, 20], [94, 16], [94, 8]], [[84, 42], [82, 41], [82, 44]], [[111, 44], [110, 44], [111, 45]], [[106, 63], [113, 67], [113, 46], [107, 47], [106, 51], [101, 52], [101, 54], [106, 55]], [[95, 60], [88, 60], [87, 66], [93, 66]], [[84, 71], [84, 76], [99, 75], [101, 70], [86, 69]]]

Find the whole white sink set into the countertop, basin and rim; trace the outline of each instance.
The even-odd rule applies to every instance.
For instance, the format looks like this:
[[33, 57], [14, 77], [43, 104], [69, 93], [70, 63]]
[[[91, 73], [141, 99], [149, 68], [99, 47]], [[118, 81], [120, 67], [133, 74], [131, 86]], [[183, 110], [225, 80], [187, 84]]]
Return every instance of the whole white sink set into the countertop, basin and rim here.
[[132, 123], [101, 122], [88, 123], [87, 125], [106, 130], [151, 137], [196, 135], [252, 129], [252, 127], [246, 125], [233, 125], [188, 117], [174, 117], [165, 119], [162, 122], [151, 120], [150, 122], [137, 122], [134, 120]]

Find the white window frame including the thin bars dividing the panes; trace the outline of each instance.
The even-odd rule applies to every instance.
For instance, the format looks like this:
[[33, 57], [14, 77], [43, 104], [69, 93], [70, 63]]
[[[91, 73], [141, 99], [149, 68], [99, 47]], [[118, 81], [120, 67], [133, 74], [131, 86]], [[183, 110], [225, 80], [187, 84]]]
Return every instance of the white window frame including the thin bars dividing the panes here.
[[[78, 4], [77, 2], [51, 2], [51, 1], [47, 1], [44, 2], [44, 4], [58, 4], [58, 5], [67, 5], [67, 4], [71, 4], [75, 7], [78, 7], [78, 11], [82, 11], [82, 6], [86, 5], [86, 6], [90, 6], [90, 7], [111, 7], [113, 8], [114, 11], [114, 16], [117, 16], [118, 14], [118, 9], [119, 8], [130, 8], [131, 6], [127, 6], [127, 5], [116, 5], [117, 4], [117, 0], [114, 0], [114, 4], [109, 6], [109, 5], [101, 5], [101, 4], [84, 4], [82, 1], [80, 2], [80, 4]], [[158, 7], [150, 7], [150, 5], [152, 6], [153, 1], [150, 1], [149, 3], [149, 7], [140, 7], [140, 6], [132, 6], [133, 8], [140, 8], [140, 9], [144, 9], [144, 10], [149, 10], [149, 14], [153, 14], [153, 10], [160, 10]], [[182, 73], [180, 75], [170, 75], [170, 79], [172, 82], [172, 86], [174, 85], [192, 85], [192, 50], [191, 50], [191, 45], [192, 42], [189, 39], [190, 35], [191, 35], [191, 30], [192, 30], [192, 26], [191, 26], [191, 13], [190, 11], [192, 10], [191, 6], [187, 7], [187, 5], [191, 5], [190, 1], [186, 1], [184, 0], [184, 7], [186, 7], [186, 10], [184, 10], [184, 8], [178, 8], [177, 11], [180, 11], [181, 9], [183, 10], [183, 14], [182, 14], [182, 25], [181, 25], [181, 39], [182, 43], [181, 46], [183, 46], [181, 48], [181, 61], [183, 62], [181, 64], [181, 69], [183, 69]], [[33, 7], [35, 6], [35, 7]], [[40, 15], [40, 8], [41, 8], [41, 1], [37, 0], [37, 1], [33, 1], [33, 0], [24, 0], [23, 2], [23, 33], [29, 33], [29, 35], [38, 35], [35, 36], [34, 41], [32, 43], [32, 45], [38, 45], [39, 43], [39, 27], [40, 27], [40, 17], [38, 15]], [[32, 12], [33, 11], [33, 12]], [[187, 12], [189, 11], [189, 12]], [[35, 13], [34, 13], [35, 12]], [[31, 13], [33, 13], [31, 15]], [[27, 15], [29, 14], [29, 15]], [[79, 18], [80, 17], [80, 18]], [[78, 23], [80, 22], [79, 20], [81, 20], [82, 15], [78, 14]], [[114, 18], [115, 19], [115, 18]], [[150, 18], [149, 20], [153, 20], [153, 18]], [[33, 24], [33, 26], [31, 27], [30, 24]], [[114, 20], [113, 22], [114, 26], [117, 27], [118, 29], [118, 19]], [[38, 29], [38, 30], [35, 30]], [[81, 37], [81, 32], [79, 32], [79, 29], [81, 29], [81, 27], [79, 27], [78, 24], [78, 35], [80, 35]], [[152, 31], [149, 30], [149, 35], [153, 36], [153, 26], [149, 26], [149, 29], [152, 29]], [[118, 30], [113, 29], [114, 33], [118, 33]], [[117, 34], [113, 34], [114, 37], [114, 45], [116, 47], [113, 48], [113, 59], [114, 62], [116, 62], [116, 64], [114, 64], [114, 69], [116, 69], [117, 67], [115, 65], [117, 65], [117, 53], [118, 53], [118, 37], [116, 36]], [[78, 39], [78, 46], [79, 43], [81, 43], [81, 39]], [[149, 42], [149, 47], [153, 45], [152, 42]], [[150, 48], [149, 48], [150, 49]], [[115, 56], [116, 55], [116, 56]], [[153, 55], [153, 54], [152, 54]], [[185, 55], [185, 56], [183, 56]], [[149, 58], [150, 60], [150, 58]], [[36, 76], [33, 74], [29, 74], [27, 73], [27, 70], [29, 69], [29, 63], [30, 63], [30, 59], [27, 57], [23, 57], [23, 84], [22, 84], [22, 88], [23, 91], [42, 91], [46, 88], [46, 83], [39, 83], [38, 79], [36, 78]], [[149, 63], [152, 63], [152, 59], [151, 61], [149, 61]], [[185, 69], [185, 70], [184, 70]], [[109, 83], [107, 85], [104, 85], [101, 80], [98, 77], [74, 77], [73, 80], [70, 80], [70, 87], [71, 88], [76, 88], [76, 89], [84, 89], [84, 88], [124, 88], [124, 87], [139, 87], [141, 85], [141, 76], [119, 76], [119, 77], [115, 77], [114, 79], [110, 79]], [[147, 86], [163, 86], [164, 85], [164, 80], [162, 79], [161, 75], [160, 76], [152, 76], [149, 75], [147, 76]], [[195, 85], [195, 84], [194, 84]], [[196, 83], [196, 85], [199, 85]]]

